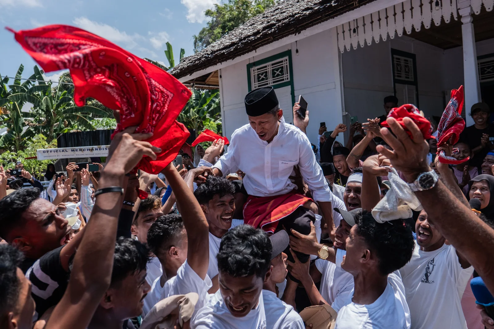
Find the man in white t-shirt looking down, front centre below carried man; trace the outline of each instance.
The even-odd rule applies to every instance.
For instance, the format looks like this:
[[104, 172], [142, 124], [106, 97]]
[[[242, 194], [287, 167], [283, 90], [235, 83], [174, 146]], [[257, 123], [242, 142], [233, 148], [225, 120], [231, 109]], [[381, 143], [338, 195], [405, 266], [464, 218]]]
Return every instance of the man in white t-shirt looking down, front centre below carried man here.
[[221, 239], [219, 290], [198, 311], [192, 329], [266, 329], [262, 288], [272, 274], [268, 235], [239, 225]]

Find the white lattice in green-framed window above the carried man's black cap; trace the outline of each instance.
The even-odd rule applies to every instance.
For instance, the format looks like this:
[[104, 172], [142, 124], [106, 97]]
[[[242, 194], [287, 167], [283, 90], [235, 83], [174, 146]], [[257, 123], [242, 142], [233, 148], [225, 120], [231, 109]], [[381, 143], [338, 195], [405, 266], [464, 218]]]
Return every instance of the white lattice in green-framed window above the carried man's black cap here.
[[252, 89], [290, 81], [288, 56], [250, 68]]

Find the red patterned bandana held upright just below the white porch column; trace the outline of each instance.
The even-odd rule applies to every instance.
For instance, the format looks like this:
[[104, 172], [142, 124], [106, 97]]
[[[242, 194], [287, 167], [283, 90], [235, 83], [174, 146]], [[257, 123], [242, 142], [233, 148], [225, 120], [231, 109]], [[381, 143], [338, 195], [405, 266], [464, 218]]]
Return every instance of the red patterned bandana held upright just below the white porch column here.
[[[446, 109], [441, 116], [439, 126], [437, 127], [437, 146], [444, 146], [446, 144], [455, 145], [458, 142], [460, 133], [465, 128], [465, 120], [461, 117], [461, 110], [463, 109], [463, 86], [451, 91], [451, 99]], [[453, 148], [453, 154], [457, 154], [458, 149]], [[439, 152], [439, 161], [447, 164], [458, 164], [468, 161], [470, 157], [463, 160], [456, 160], [452, 156], [447, 156], [444, 150]]]

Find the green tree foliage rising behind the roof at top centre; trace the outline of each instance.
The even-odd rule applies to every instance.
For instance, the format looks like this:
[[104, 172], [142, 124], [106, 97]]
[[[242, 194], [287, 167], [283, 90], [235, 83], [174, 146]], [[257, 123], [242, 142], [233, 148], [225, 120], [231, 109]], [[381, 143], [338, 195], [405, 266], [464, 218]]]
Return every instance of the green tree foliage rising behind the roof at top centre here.
[[228, 3], [215, 4], [214, 9], [205, 12], [211, 20], [194, 36], [194, 51], [201, 51], [274, 4], [275, 0], [228, 0]]

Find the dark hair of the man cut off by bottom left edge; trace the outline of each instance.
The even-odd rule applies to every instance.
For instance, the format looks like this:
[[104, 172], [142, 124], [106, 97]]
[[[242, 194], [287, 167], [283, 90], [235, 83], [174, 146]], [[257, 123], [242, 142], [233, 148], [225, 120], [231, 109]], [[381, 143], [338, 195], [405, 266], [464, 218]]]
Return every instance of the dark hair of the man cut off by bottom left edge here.
[[24, 256], [14, 247], [0, 245], [0, 317], [12, 311], [19, 297], [17, 267]]

